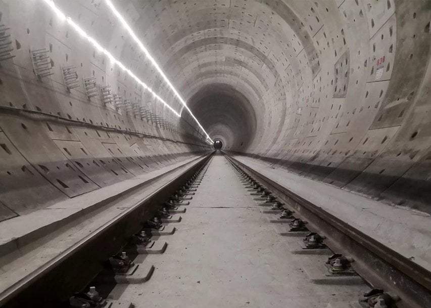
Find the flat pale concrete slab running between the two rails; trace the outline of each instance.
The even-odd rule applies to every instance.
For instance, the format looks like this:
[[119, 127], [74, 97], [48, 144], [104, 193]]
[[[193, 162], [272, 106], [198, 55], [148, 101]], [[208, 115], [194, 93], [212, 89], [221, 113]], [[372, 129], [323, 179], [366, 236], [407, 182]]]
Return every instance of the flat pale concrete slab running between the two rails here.
[[229, 162], [215, 155], [168, 249], [146, 257], [156, 267], [151, 280], [129, 285], [121, 301], [137, 308], [321, 308], [367, 290], [310, 283], [303, 256], [290, 253], [290, 239], [277, 235], [261, 211]]

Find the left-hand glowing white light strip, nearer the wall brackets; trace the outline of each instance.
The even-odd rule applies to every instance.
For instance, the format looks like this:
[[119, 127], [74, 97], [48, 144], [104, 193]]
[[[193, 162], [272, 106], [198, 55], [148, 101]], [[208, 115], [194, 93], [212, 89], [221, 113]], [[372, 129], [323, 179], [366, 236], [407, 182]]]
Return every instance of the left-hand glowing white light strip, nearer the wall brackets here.
[[[142, 80], [140, 80], [135, 74], [132, 73], [132, 71], [130, 69], [126, 68], [123, 65], [123, 63], [121, 63], [116, 58], [114, 58], [114, 56], [110, 52], [108, 52], [105, 48], [103, 48], [94, 38], [92, 38], [91, 36], [89, 36], [81, 27], [79, 27], [70, 17], [66, 16], [59, 8], [57, 8], [57, 6], [55, 5], [55, 3], [52, 0], [42, 0], [42, 1], [45, 2], [56, 13], [56, 15], [58, 16], [58, 18], [60, 18], [63, 21], [65, 20], [70, 26], [72, 26], [75, 29], [76, 32], [78, 32], [82, 37], [86, 38], [95, 48], [97, 48], [97, 50], [99, 50], [100, 52], [104, 53], [112, 62], [114, 62], [121, 69], [123, 69], [124, 71], [126, 71], [127, 74], [129, 76], [131, 76], [133, 79], [135, 79], [135, 81], [137, 83], [139, 83], [140, 85], [142, 85], [142, 87], [145, 90], [147, 90], [148, 92], [150, 92], [153, 95], [154, 98], [156, 98], [165, 107], [167, 107], [170, 111], [172, 111], [177, 117], [181, 116], [168, 103], [166, 103], [160, 96], [158, 96], [145, 82], [143, 82]], [[153, 58], [151, 58], [151, 59], [153, 59]], [[154, 61], [154, 60], [152, 60], [152, 61]], [[164, 76], [164, 78], [166, 78], [166, 77]], [[185, 103], [183, 103], [183, 104], [185, 104]], [[187, 108], [187, 110], [189, 111], [188, 108]], [[209, 139], [210, 142], [213, 142], [212, 139], [206, 133], [205, 129], [202, 127], [202, 125], [199, 123], [199, 121], [195, 118], [195, 116], [191, 112], [190, 112], [190, 115], [195, 119], [195, 121], [198, 123], [199, 127], [201, 127], [201, 129], [204, 131], [204, 133], [207, 136], [207, 140]]]

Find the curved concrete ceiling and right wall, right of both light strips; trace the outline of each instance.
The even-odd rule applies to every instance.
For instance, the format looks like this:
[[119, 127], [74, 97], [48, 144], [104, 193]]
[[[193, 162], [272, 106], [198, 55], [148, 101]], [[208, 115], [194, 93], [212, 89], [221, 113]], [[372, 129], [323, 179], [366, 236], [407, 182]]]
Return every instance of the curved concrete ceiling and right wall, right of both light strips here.
[[[420, 188], [431, 174], [414, 170], [429, 170], [430, 120], [415, 111], [430, 106], [419, 103], [429, 96], [422, 65], [429, 2], [158, 1], [134, 8], [142, 39], [225, 148], [399, 204], [428, 196]], [[243, 102], [253, 111], [241, 111]], [[255, 114], [256, 129], [241, 114]]]

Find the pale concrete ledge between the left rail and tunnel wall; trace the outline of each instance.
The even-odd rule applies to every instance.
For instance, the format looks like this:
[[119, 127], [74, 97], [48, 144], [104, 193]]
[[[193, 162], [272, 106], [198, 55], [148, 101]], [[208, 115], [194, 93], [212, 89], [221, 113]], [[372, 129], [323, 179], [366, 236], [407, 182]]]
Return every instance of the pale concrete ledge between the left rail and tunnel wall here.
[[[131, 191], [123, 194], [119, 199], [108, 200], [109, 202], [106, 202], [103, 206], [86, 211], [69, 221], [64, 219], [64, 216], [70, 215], [71, 211], [77, 211], [79, 208], [73, 207], [73, 210], [68, 209], [66, 213], [58, 212], [59, 216], [54, 214], [50, 216], [45, 213], [46, 218], [39, 218], [39, 220], [43, 224], [50, 223], [54, 226], [47, 230], [42, 230], [37, 236], [30, 233], [28, 237], [25, 237], [27, 235], [26, 231], [32, 232], [34, 227], [41, 227], [37, 226], [36, 223], [28, 224], [29, 226], [22, 224], [19, 225], [19, 228], [18, 225], [13, 224], [14, 228], [7, 230], [6, 225], [9, 225], [10, 220], [0, 222], [2, 235], [9, 236], [9, 238], [6, 238], [6, 240], [9, 239], [8, 245], [5, 244], [0, 247], [0, 295], [5, 296], [5, 294], [13, 290], [15, 285], [24, 284], [43, 273], [57, 260], [67, 256], [73, 249], [77, 249], [81, 243], [85, 243], [92, 236], [97, 236], [114, 219], [121, 218], [130, 210], [139, 206], [143, 199], [149, 198], [155, 191], [199, 161], [198, 159], [185, 164], [185, 166], [177, 166], [178, 168], [168, 172], [165, 177], [149, 181], [147, 185], [141, 186], [138, 192]], [[139, 180], [134, 179], [134, 181]], [[104, 196], [99, 197], [103, 198]], [[85, 199], [80, 200], [80, 202], [85, 202]], [[46, 211], [50, 210], [46, 209], [44, 212]], [[35, 215], [36, 217], [31, 215], [29, 214], [30, 218], [34, 220], [41, 216], [40, 214]], [[20, 219], [20, 217], [12, 219]], [[60, 220], [57, 221], [56, 219]], [[15, 232], [16, 236], [21, 236], [21, 238], [11, 237], [13, 236], [11, 232]]]

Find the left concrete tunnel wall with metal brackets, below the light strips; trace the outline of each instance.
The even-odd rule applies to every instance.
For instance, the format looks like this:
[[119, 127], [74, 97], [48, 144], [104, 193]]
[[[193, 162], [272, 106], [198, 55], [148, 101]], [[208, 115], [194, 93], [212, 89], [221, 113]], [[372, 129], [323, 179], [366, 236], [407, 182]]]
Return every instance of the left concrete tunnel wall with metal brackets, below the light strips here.
[[[90, 2], [63, 4], [71, 16], [92, 27], [101, 44], [117, 49], [115, 56], [131, 62], [121, 55], [125, 43], [109, 23], [111, 17], [99, 18]], [[195, 127], [162, 108], [41, 1], [0, 1], [0, 12], [15, 56], [0, 67], [0, 221], [211, 149]], [[48, 51], [53, 66], [52, 75], [43, 78], [33, 72], [30, 56], [40, 49]], [[62, 67], [70, 65], [76, 67], [79, 86], [68, 91]], [[82, 78], [92, 76], [99, 94], [88, 99]], [[99, 92], [105, 85], [184, 126], [182, 131], [106, 105]], [[161, 85], [150, 86], [156, 91]]]

